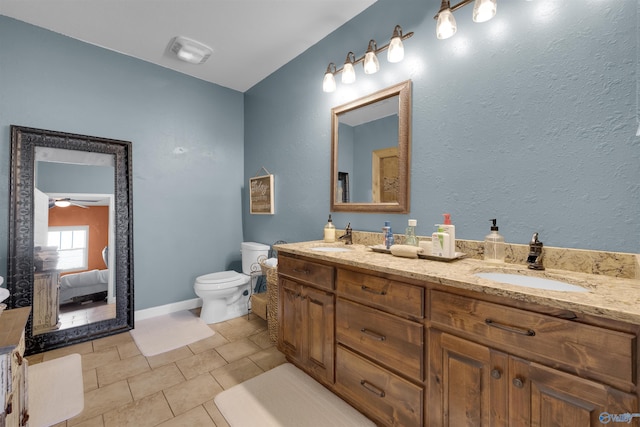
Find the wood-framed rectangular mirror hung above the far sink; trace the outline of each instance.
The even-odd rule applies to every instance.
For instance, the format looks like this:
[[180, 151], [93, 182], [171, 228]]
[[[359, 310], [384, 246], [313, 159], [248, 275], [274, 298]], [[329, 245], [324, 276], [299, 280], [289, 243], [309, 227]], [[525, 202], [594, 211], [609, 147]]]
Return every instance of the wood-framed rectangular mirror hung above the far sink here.
[[331, 109], [331, 211], [408, 213], [411, 80]]

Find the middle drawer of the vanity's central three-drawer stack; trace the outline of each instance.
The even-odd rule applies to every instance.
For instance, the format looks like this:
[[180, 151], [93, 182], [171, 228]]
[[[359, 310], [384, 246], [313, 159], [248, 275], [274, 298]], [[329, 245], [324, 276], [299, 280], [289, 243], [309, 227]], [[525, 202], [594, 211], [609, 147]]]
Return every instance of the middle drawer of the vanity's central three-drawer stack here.
[[422, 324], [339, 298], [336, 336], [357, 352], [422, 381]]

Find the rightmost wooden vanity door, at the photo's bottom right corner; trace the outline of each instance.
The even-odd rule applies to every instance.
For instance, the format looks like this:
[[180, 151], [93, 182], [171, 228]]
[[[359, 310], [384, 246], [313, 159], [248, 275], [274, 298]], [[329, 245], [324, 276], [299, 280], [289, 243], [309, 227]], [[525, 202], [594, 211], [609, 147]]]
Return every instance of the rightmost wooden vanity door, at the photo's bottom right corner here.
[[594, 381], [516, 357], [509, 370], [512, 426], [595, 427], [639, 412], [636, 396]]

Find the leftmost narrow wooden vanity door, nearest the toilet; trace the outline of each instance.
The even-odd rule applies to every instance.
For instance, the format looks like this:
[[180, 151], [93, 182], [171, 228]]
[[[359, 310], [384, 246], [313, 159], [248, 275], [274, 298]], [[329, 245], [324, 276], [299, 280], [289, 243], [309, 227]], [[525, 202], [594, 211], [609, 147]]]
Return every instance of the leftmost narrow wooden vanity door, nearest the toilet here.
[[290, 358], [302, 361], [302, 286], [280, 279], [280, 334], [278, 347]]

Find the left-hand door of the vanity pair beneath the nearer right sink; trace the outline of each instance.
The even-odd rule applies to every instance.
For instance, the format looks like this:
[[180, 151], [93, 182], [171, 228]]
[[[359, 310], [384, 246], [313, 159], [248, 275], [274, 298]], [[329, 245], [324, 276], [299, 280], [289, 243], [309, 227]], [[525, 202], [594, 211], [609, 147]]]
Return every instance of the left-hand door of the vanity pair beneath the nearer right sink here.
[[429, 333], [428, 425], [506, 426], [508, 356], [433, 329]]

